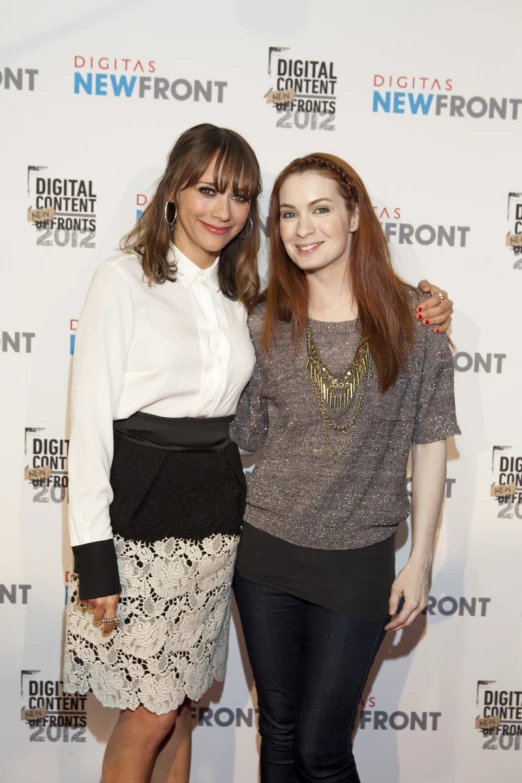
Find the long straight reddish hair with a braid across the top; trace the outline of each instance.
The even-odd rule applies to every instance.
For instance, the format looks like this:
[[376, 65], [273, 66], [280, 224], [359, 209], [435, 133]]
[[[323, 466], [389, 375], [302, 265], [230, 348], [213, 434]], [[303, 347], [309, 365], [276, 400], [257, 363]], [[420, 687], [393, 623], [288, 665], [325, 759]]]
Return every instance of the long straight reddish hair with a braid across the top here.
[[359, 210], [348, 274], [361, 326], [361, 342], [367, 342], [379, 377], [381, 391], [392, 386], [405, 366], [408, 346], [414, 342], [414, 319], [410, 305], [413, 289], [395, 273], [386, 237], [368, 192], [354, 169], [327, 153], [314, 153], [293, 160], [279, 174], [270, 199], [270, 271], [262, 342], [269, 351], [279, 321], [292, 323], [298, 342], [308, 318], [308, 283], [303, 270], [289, 258], [279, 227], [279, 194], [292, 174], [317, 171], [339, 185], [350, 214]]

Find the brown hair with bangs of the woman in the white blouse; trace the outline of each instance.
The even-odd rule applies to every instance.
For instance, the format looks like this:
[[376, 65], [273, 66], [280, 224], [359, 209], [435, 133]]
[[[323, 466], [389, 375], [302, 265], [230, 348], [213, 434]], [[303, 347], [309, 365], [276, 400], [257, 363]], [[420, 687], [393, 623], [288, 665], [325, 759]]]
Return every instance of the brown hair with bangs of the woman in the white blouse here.
[[252, 221], [246, 238], [236, 236], [221, 251], [219, 284], [226, 297], [238, 299], [251, 310], [259, 293], [257, 198], [262, 183], [252, 147], [235, 131], [203, 123], [181, 134], [169, 154], [154, 196], [134, 228], [121, 240], [120, 249], [138, 256], [149, 285], [175, 281], [177, 269], [170, 252], [172, 231], [165, 220], [165, 204], [176, 202], [181, 190], [196, 185], [214, 159], [214, 187], [224, 193], [230, 185], [234, 193], [247, 198]]

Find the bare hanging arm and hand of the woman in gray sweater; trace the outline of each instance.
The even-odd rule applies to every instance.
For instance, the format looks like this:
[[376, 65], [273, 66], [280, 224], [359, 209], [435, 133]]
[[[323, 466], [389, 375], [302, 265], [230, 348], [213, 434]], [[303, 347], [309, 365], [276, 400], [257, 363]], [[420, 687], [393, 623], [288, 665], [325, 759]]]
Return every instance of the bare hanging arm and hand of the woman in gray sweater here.
[[[393, 583], [391, 622], [387, 631], [411, 625], [428, 605], [435, 533], [446, 486], [446, 440], [413, 446], [412, 548], [409, 560]], [[404, 603], [397, 616], [399, 601]]]

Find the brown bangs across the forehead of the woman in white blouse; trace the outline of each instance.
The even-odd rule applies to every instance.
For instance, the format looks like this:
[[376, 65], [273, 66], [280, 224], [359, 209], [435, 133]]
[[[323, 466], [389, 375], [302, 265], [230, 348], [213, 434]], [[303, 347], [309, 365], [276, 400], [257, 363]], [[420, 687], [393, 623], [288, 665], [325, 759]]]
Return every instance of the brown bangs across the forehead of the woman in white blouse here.
[[231, 133], [201, 150], [197, 165], [191, 167], [185, 187], [196, 185], [213, 160], [213, 184], [218, 193], [225, 193], [230, 188], [234, 196], [242, 196], [249, 201], [258, 197], [262, 186], [257, 159], [252, 150]]

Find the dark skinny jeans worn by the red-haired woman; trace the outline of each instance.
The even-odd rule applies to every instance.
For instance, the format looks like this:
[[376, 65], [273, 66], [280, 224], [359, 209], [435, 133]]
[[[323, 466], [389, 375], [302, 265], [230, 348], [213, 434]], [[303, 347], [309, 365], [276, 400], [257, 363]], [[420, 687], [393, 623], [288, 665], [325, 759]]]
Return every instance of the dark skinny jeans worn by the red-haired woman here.
[[353, 620], [236, 571], [259, 702], [261, 783], [360, 783], [351, 734], [385, 620]]

